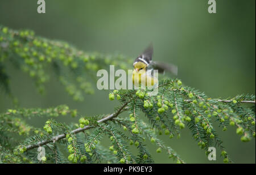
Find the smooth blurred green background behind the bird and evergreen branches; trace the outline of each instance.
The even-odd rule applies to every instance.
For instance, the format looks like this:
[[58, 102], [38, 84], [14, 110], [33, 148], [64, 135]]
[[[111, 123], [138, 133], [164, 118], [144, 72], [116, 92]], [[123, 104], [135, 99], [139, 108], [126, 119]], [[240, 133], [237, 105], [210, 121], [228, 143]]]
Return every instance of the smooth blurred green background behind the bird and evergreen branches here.
[[[187, 86], [222, 99], [255, 94], [254, 0], [217, 0], [216, 14], [208, 13], [207, 0], [46, 0], [46, 14], [37, 13], [36, 2], [0, 0], [0, 23], [13, 29], [32, 29], [36, 35], [64, 40], [85, 51], [118, 52], [134, 58], [152, 42], [153, 59], [177, 65], [178, 78]], [[67, 104], [82, 114], [93, 115], [112, 113], [118, 104], [109, 102], [108, 91], [86, 96], [82, 103], [74, 102], [54, 77], [42, 96], [26, 74], [13, 66], [7, 71], [11, 90], [24, 108]], [[0, 112], [9, 108], [9, 97], [0, 92]], [[69, 117], [60, 120], [77, 122], [77, 118]], [[31, 122], [43, 127], [45, 121], [36, 118]], [[235, 163], [255, 163], [255, 139], [242, 143], [234, 127], [219, 134]], [[219, 150], [217, 161], [209, 161], [188, 129], [180, 139], [160, 138], [187, 163], [222, 163]], [[155, 149], [150, 144], [156, 163], [172, 163]]]

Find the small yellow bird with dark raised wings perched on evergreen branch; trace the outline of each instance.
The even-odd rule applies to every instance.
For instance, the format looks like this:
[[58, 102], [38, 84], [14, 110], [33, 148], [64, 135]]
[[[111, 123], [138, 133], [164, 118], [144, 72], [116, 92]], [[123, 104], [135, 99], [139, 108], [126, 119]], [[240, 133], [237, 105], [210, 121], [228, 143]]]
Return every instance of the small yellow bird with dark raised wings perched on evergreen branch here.
[[152, 87], [158, 83], [158, 78], [153, 74], [153, 70], [158, 70], [159, 73], [164, 73], [166, 70], [177, 75], [176, 66], [153, 62], [152, 54], [153, 46], [151, 44], [135, 59], [133, 63], [133, 84], [135, 84], [135, 86], [141, 84], [141, 86]]

